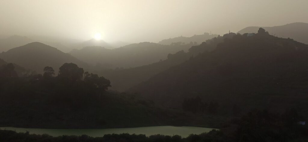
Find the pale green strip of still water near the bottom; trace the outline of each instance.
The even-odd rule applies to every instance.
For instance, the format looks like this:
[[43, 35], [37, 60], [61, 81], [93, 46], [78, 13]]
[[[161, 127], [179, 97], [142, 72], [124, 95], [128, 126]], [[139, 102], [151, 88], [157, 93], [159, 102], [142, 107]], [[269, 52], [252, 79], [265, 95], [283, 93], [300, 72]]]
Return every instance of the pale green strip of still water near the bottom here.
[[112, 128], [112, 129], [38, 129], [38, 128], [14, 128], [14, 127], [0, 127], [2, 130], [13, 130], [16, 132], [29, 131], [30, 134], [48, 134], [51, 136], [62, 135], [88, 135], [92, 137], [102, 137], [105, 134], [145, 134], [151, 136], [155, 134], [161, 135], [180, 135], [187, 137], [189, 134], [201, 134], [203, 132], [209, 132], [213, 128], [201, 128], [201, 127], [174, 127], [174, 126], [153, 126], [153, 127], [138, 127], [138, 128]]

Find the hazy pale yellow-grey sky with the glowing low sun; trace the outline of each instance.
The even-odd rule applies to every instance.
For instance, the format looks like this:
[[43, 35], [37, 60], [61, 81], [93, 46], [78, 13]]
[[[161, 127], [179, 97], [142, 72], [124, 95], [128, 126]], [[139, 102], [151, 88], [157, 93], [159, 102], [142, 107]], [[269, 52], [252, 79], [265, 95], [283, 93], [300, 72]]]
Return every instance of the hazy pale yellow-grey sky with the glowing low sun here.
[[0, 34], [157, 42], [308, 23], [308, 0], [0, 0]]

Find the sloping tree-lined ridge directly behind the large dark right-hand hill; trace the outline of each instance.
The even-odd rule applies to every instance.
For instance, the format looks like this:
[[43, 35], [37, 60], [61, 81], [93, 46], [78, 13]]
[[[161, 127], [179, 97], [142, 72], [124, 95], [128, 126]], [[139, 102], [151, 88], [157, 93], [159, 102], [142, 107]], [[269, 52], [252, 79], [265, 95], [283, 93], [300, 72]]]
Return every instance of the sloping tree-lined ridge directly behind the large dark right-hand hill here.
[[150, 65], [144, 65], [136, 68], [129, 69], [110, 69], [96, 71], [95, 73], [107, 77], [111, 81], [111, 89], [117, 91], [125, 91], [134, 85], [148, 80], [153, 75], [169, 69], [172, 66], [178, 65], [187, 61], [189, 58], [197, 56], [199, 53], [205, 51], [209, 52], [216, 48], [218, 43], [224, 41], [225, 38], [232, 38], [235, 34], [225, 34], [224, 36], [214, 37], [203, 42], [200, 45], [194, 45], [189, 48], [189, 52], [185, 53], [183, 50], [175, 53], [168, 54], [166, 60], [159, 61]]

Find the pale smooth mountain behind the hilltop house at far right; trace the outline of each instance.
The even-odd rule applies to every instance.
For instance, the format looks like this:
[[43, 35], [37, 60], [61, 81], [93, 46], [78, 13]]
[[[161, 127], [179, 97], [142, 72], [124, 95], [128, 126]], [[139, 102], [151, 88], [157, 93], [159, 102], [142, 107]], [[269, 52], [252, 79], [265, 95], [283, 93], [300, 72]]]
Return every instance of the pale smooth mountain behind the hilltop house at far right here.
[[[246, 27], [237, 33], [245, 34], [245, 33], [257, 33], [260, 27]], [[269, 34], [282, 37], [282, 38], [292, 38], [298, 42], [302, 42], [308, 44], [308, 23], [291, 23], [282, 26], [274, 26], [274, 27], [261, 27], [269, 32]]]

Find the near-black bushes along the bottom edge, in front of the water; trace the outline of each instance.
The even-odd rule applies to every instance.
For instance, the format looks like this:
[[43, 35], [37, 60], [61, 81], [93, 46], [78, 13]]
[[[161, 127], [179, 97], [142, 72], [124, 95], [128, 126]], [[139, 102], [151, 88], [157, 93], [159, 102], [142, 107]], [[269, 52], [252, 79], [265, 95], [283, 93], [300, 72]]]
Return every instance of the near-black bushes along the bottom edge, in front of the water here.
[[221, 130], [212, 130], [199, 135], [191, 134], [186, 138], [181, 136], [142, 134], [107, 134], [103, 137], [58, 136], [47, 134], [35, 135], [0, 130], [0, 141], [22, 142], [303, 142], [308, 140], [307, 126], [297, 124], [300, 115], [290, 109], [283, 114], [274, 114], [266, 110], [253, 110], [241, 119], [233, 120]]

